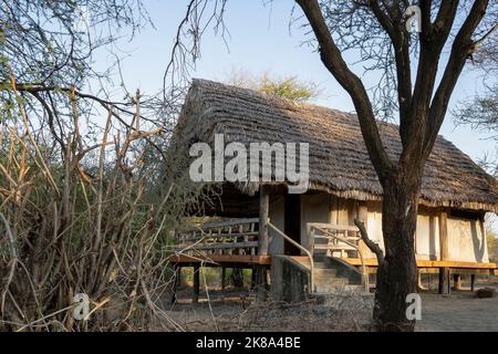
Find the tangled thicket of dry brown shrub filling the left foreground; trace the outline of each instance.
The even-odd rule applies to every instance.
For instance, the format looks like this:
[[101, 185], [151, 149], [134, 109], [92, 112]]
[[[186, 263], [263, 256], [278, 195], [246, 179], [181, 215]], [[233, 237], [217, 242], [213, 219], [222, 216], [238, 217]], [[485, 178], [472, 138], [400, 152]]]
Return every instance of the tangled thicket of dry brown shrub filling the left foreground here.
[[[131, 124], [108, 107], [90, 144], [72, 93], [55, 136], [29, 119], [13, 77], [12, 90], [18, 116], [0, 121], [0, 330], [181, 330], [164, 310], [167, 244], [199, 187], [152, 188], [159, 171], [144, 158], [160, 129], [141, 129], [135, 102]], [[91, 300], [87, 321], [72, 315], [77, 293]]]

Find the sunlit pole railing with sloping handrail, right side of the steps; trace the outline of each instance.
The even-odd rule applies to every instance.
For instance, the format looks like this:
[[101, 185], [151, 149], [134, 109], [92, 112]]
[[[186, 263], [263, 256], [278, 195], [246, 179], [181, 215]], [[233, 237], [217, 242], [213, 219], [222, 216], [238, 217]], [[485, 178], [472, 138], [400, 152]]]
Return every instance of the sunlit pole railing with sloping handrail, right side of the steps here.
[[[334, 223], [309, 222], [308, 228], [308, 249], [314, 254], [315, 250], [324, 250], [326, 256], [333, 257], [340, 252], [339, 258], [344, 257], [346, 252], [356, 252], [361, 261], [362, 279], [365, 291], [370, 291], [369, 273], [366, 272], [365, 261], [360, 249], [361, 235], [355, 226], [344, 226]], [[320, 241], [320, 242], [317, 242]]]

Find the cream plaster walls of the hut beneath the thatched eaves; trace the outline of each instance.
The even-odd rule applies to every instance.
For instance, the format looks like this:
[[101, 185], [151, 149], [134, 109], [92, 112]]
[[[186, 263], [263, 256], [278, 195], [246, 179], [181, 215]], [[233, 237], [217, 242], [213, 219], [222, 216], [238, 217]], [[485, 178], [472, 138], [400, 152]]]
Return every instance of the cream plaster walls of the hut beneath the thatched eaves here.
[[[271, 222], [284, 229], [284, 196], [270, 197]], [[382, 238], [382, 204], [367, 201], [366, 230], [369, 237], [384, 249]], [[308, 246], [307, 222], [352, 225], [356, 215], [355, 204], [326, 194], [301, 196], [301, 244]], [[448, 258], [453, 261], [488, 262], [486, 238], [479, 220], [448, 217]], [[269, 251], [283, 253], [283, 240], [270, 230]], [[415, 238], [416, 258], [439, 260], [439, 220], [437, 214], [421, 208]], [[371, 254], [372, 256], [372, 254]]]

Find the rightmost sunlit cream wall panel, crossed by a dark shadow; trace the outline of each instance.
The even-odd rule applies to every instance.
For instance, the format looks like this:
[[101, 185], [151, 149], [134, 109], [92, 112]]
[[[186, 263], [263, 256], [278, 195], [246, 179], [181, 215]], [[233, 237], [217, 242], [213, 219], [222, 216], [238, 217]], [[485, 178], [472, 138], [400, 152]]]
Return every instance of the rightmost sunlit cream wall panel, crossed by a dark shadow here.
[[486, 236], [479, 220], [448, 217], [448, 258], [463, 262], [489, 261]]

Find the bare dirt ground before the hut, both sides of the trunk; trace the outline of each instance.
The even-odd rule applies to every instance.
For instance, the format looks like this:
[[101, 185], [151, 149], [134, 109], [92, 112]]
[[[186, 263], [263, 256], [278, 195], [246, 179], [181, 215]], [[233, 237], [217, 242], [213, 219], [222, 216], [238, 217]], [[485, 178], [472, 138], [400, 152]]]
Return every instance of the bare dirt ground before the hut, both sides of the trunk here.
[[[464, 289], [468, 284], [464, 283]], [[498, 279], [480, 280], [476, 289], [498, 290]], [[304, 302], [256, 306], [247, 292], [210, 292], [210, 301], [191, 304], [190, 290], [168, 315], [186, 331], [370, 331], [373, 298], [341, 296], [328, 305]], [[449, 295], [422, 293], [419, 332], [498, 331], [498, 296], [477, 299], [468, 289]]]

